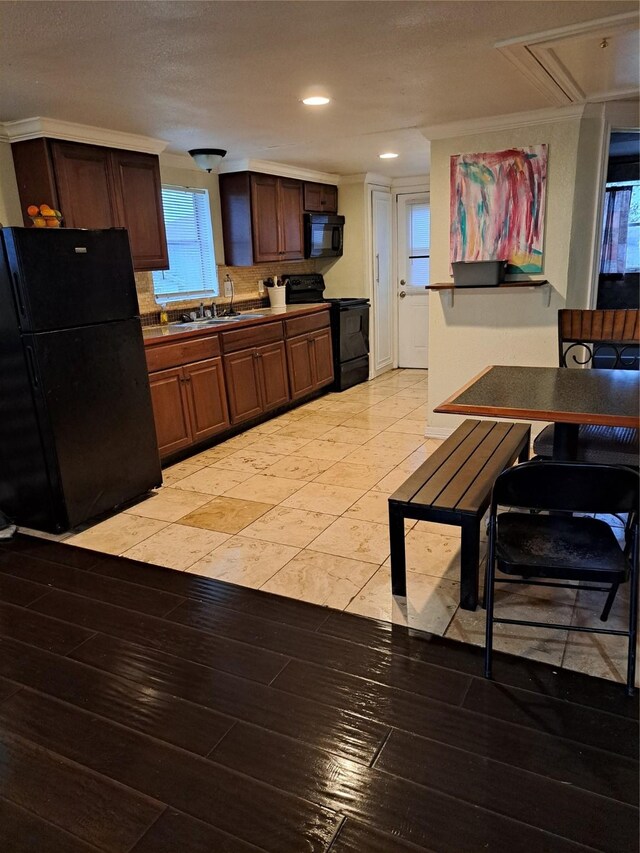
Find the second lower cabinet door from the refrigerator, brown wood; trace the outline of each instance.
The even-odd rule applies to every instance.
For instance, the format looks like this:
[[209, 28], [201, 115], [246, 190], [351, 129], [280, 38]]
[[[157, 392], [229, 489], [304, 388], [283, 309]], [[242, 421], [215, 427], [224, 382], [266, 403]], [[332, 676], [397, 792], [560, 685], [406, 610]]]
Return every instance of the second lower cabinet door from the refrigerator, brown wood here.
[[208, 358], [182, 368], [186, 380], [194, 441], [227, 429], [229, 410], [221, 358]]

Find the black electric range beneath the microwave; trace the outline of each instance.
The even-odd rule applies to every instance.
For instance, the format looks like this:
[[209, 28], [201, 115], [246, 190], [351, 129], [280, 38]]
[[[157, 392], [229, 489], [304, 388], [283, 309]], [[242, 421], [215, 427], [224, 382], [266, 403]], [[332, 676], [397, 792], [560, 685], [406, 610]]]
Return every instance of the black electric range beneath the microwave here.
[[365, 297], [326, 299], [320, 273], [285, 275], [289, 305], [327, 302], [330, 305], [334, 391], [345, 391], [369, 378], [369, 300]]

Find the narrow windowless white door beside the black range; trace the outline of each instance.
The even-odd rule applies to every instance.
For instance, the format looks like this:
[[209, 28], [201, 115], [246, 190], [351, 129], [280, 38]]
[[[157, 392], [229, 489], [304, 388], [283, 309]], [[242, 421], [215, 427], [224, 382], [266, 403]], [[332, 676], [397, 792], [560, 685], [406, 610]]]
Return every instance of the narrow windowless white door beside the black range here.
[[394, 288], [391, 276], [391, 195], [372, 194], [373, 225], [373, 372], [393, 367], [395, 327]]

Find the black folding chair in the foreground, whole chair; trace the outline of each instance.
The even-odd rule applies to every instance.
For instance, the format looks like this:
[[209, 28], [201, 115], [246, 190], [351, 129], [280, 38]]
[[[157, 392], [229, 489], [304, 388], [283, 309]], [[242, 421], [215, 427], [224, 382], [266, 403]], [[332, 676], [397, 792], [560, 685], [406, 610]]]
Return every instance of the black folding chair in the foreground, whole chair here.
[[[491, 678], [493, 625], [529, 625], [629, 638], [627, 692], [633, 693], [638, 621], [638, 490], [640, 476], [630, 468], [580, 462], [534, 460], [507, 469], [497, 478], [489, 516], [489, 554], [485, 578], [487, 631], [485, 671]], [[498, 513], [498, 507], [517, 507]], [[535, 513], [531, 511], [535, 510]], [[625, 514], [630, 522], [624, 547], [609, 525], [572, 513]], [[601, 620], [606, 622], [620, 584], [630, 582], [629, 630], [580, 628], [494, 617], [498, 571], [517, 577], [500, 582], [529, 586], [584, 588], [607, 592]], [[532, 580], [534, 579], [534, 580]], [[593, 584], [597, 584], [593, 586]]]

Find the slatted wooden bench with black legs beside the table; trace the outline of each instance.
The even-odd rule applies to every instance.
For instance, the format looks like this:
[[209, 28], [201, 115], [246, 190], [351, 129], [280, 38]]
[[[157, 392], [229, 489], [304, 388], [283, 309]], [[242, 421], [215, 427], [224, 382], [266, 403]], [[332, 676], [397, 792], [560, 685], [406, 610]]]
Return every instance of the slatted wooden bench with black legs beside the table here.
[[460, 606], [478, 604], [480, 523], [498, 474], [529, 458], [529, 424], [466, 420], [389, 498], [391, 591], [406, 596], [404, 520], [462, 530]]

